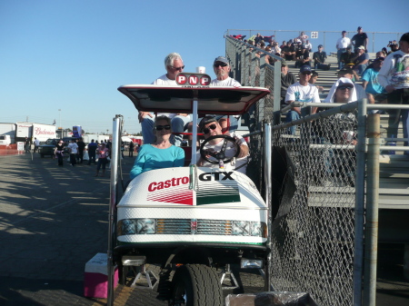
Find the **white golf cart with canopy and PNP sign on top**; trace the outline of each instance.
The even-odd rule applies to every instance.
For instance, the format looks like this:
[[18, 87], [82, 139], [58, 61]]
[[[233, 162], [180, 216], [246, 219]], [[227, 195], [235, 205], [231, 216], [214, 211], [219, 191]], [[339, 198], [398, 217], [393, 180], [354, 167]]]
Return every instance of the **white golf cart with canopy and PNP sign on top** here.
[[[270, 93], [260, 87], [210, 87], [206, 74], [178, 74], [176, 80], [179, 86], [124, 85], [118, 90], [138, 111], [193, 114], [193, 126], [197, 126], [198, 115], [244, 114]], [[123, 117], [116, 115], [111, 161], [108, 305], [113, 304], [115, 265], [119, 281], [124, 283], [131, 268], [143, 267], [141, 271], [149, 278], [145, 264], [161, 264], [158, 298], [169, 301], [169, 305], [223, 305], [223, 278], [230, 264], [235, 263], [263, 271], [268, 290], [269, 207], [253, 181], [244, 173], [219, 169], [219, 161], [215, 168], [197, 167], [197, 133], [193, 133], [191, 156], [186, 156], [191, 158], [190, 166], [142, 173], [127, 185], [119, 201], [122, 124]], [[265, 130], [268, 133], [269, 128]], [[228, 138], [231, 137], [227, 141], [233, 140]], [[202, 156], [206, 155], [205, 143], [200, 149]], [[269, 150], [264, 154], [267, 167], [268, 153]], [[214, 156], [228, 162], [223, 152]], [[264, 198], [268, 199], [268, 194]], [[224, 271], [223, 276], [215, 268]]]

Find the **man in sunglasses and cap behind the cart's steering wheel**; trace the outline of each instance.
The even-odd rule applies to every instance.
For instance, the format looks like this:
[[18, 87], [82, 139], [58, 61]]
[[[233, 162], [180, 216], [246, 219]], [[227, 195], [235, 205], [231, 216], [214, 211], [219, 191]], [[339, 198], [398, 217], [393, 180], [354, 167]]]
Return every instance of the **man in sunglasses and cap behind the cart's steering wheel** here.
[[[235, 170], [239, 173], [245, 173], [245, 170], [247, 168], [247, 163], [249, 162], [249, 150], [248, 150], [248, 145], [242, 136], [237, 135], [235, 133], [222, 133], [222, 126], [220, 125], [220, 123], [217, 122], [217, 119], [215, 116], [205, 116], [199, 123], [199, 130], [201, 133], [204, 133], [205, 140], [209, 138], [210, 136], [223, 135], [223, 134], [234, 138], [235, 142], [240, 147], [240, 153], [235, 160], [232, 160], [230, 163], [224, 163], [224, 169], [225, 170]], [[223, 138], [216, 138], [214, 140], [211, 140], [209, 143], [206, 143], [204, 149], [210, 152], [219, 152], [222, 149], [223, 144], [224, 144]], [[234, 145], [230, 142], [227, 143], [227, 147], [225, 150], [225, 157], [231, 158], [234, 156], [235, 153], [236, 152], [235, 152]], [[214, 159], [214, 157], [211, 157], [210, 155], [207, 155], [207, 157], [211, 160]], [[200, 155], [200, 151], [196, 153], [196, 161], [197, 161], [196, 164], [201, 167], [210, 167], [210, 168], [219, 167], [218, 163], [209, 163], [205, 161]], [[216, 159], [214, 159], [214, 161], [216, 161]]]

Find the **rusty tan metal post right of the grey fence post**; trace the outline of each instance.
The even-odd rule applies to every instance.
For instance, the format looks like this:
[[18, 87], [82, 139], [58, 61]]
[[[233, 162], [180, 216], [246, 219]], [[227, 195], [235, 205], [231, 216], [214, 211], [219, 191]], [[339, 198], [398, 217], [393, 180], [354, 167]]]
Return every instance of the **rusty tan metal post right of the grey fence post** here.
[[368, 169], [364, 252], [364, 305], [375, 305], [378, 242], [380, 114], [368, 115]]

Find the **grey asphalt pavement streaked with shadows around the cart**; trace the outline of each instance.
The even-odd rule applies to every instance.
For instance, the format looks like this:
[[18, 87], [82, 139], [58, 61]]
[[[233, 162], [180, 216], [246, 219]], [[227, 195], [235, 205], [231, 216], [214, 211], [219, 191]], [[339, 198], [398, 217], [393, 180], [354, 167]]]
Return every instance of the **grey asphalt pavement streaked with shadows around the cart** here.
[[[123, 160], [125, 181], [133, 162]], [[38, 154], [0, 156], [0, 305], [105, 305], [83, 295], [85, 262], [107, 250], [109, 178], [94, 174], [94, 165], [58, 167]], [[402, 258], [399, 245], [380, 246], [377, 305], [409, 303]], [[259, 275], [237, 278], [262, 291]], [[116, 306], [167, 305], [145, 289], [118, 286], [115, 296]]]

